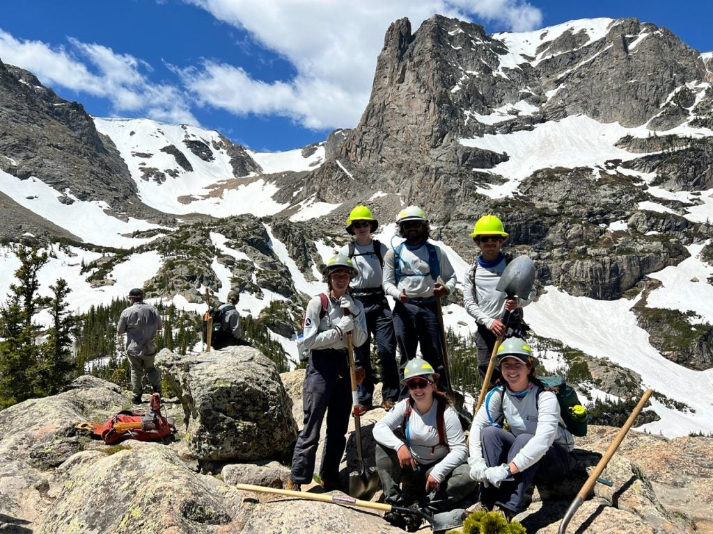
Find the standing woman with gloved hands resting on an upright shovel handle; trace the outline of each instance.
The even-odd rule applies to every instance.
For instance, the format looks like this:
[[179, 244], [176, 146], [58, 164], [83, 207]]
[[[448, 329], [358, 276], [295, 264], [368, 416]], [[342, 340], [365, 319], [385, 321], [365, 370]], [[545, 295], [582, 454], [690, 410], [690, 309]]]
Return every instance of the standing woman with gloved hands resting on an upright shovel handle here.
[[347, 427], [352, 412], [352, 382], [347, 352], [348, 336], [353, 345], [366, 341], [366, 319], [359, 300], [349, 296], [349, 281], [356, 269], [342, 253], [327, 261], [324, 268], [329, 293], [327, 310], [322, 313], [322, 298], [317, 295], [307, 303], [304, 313], [304, 348], [309, 350], [307, 370], [302, 385], [304, 426], [297, 436], [292, 454], [292, 472], [288, 489], [300, 491], [312, 481], [317, 457], [319, 431], [327, 414], [319, 477], [326, 491], [339, 488], [339, 462], [347, 446]]

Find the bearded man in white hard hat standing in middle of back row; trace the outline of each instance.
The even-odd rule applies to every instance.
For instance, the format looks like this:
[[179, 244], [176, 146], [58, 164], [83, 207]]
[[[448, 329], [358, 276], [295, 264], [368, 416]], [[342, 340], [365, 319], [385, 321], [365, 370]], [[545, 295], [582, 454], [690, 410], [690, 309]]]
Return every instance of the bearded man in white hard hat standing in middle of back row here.
[[[420, 343], [424, 360], [440, 375], [439, 389], [447, 391], [436, 298], [456, 288], [456, 273], [446, 253], [429, 241], [429, 221], [421, 208], [405, 208], [396, 216], [396, 224], [405, 241], [386, 252], [383, 285], [386, 294], [396, 300], [394, 330], [401, 352], [401, 376], [406, 363], [416, 357]], [[438, 282], [439, 277], [443, 283]], [[408, 389], [401, 389], [401, 398], [408, 394]]]

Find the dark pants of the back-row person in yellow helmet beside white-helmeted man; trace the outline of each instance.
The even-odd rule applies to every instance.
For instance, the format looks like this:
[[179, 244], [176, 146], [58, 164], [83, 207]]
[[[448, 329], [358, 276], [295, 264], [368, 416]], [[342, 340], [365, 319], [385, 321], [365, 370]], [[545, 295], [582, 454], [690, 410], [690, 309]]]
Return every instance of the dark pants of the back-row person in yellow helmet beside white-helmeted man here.
[[374, 336], [376, 352], [379, 354], [379, 371], [381, 375], [381, 399], [396, 402], [399, 398], [399, 367], [396, 365], [396, 336], [394, 323], [391, 317], [391, 308], [386, 297], [381, 297], [374, 302], [369, 298], [359, 298], [364, 305], [366, 318], [366, 342], [360, 347], [354, 347], [354, 360], [356, 365], [364, 368], [366, 375], [364, 381], [357, 386], [359, 391], [359, 404], [371, 405], [376, 384], [376, 372], [371, 366], [371, 336]]

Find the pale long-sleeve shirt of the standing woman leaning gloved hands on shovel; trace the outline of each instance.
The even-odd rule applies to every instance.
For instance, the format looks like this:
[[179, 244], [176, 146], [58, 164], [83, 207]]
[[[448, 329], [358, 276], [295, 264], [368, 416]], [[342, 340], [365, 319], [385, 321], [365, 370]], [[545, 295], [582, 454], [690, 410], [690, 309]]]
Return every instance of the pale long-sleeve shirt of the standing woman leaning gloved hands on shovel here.
[[[344, 308], [339, 305], [339, 299], [328, 298], [329, 305], [324, 317], [319, 318], [322, 312], [322, 300], [319, 295], [309, 299], [307, 310], [304, 312], [303, 345], [307, 350], [312, 349], [336, 349], [347, 348], [347, 335], [339, 333], [335, 325], [344, 318]], [[364, 306], [359, 300], [354, 299], [354, 305], [359, 309], [359, 313], [354, 317], [354, 330], [352, 330], [352, 344], [354, 347], [364, 345], [366, 342], [366, 318], [364, 317]]]

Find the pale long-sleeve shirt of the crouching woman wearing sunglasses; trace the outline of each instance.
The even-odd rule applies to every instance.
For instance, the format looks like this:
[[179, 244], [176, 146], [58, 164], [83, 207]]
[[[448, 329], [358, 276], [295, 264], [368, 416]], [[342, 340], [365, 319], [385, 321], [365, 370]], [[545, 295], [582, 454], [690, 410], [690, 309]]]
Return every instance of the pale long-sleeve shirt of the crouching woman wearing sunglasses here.
[[[384, 418], [374, 425], [374, 439], [381, 446], [398, 451], [401, 446], [405, 445], [404, 441], [394, 434], [394, 430], [403, 424], [408, 402], [409, 399], [404, 399], [397, 403], [394, 408], [386, 412]], [[437, 416], [438, 402], [435, 399], [431, 409], [423, 415], [419, 414], [414, 406], [411, 410], [411, 417], [409, 417], [409, 451], [419, 464], [430, 466], [434, 462], [438, 462], [431, 471], [431, 476], [436, 481], [443, 482], [453, 469], [465, 463], [468, 458], [468, 449], [463, 426], [461, 426], [456, 410], [450, 405], [443, 412], [443, 426], [445, 426], [448, 446], [438, 444]]]

